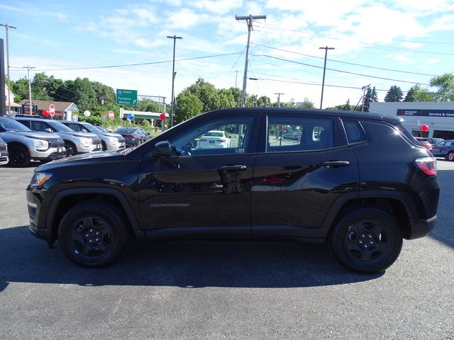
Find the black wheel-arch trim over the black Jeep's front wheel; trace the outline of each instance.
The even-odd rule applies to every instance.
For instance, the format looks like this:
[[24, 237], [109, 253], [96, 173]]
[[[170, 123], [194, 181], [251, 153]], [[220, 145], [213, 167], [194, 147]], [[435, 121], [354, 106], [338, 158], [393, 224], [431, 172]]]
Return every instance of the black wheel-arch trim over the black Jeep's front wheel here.
[[71, 188], [56, 193], [50, 203], [45, 220], [46, 228], [50, 230], [50, 243], [57, 239], [60, 221], [67, 210], [72, 205], [94, 199], [114, 205], [118, 211], [124, 213], [135, 237], [143, 237], [143, 231], [140, 230], [140, 225], [133, 212], [133, 208], [123, 193], [114, 188]]

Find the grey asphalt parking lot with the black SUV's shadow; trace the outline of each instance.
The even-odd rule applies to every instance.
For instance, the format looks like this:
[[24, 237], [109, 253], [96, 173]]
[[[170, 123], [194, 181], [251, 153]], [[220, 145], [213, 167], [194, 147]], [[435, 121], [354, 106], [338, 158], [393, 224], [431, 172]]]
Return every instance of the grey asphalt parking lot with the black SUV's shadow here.
[[454, 162], [436, 228], [373, 276], [284, 242], [135, 242], [80, 268], [28, 232], [35, 165], [0, 166], [0, 339], [454, 339]]

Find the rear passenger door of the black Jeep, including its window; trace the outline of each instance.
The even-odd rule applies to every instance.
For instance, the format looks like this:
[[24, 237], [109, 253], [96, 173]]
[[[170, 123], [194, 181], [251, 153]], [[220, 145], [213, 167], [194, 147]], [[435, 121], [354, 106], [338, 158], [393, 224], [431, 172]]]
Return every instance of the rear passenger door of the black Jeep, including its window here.
[[[341, 121], [282, 113], [268, 115], [262, 126], [251, 188], [253, 235], [320, 237], [336, 199], [358, 195], [358, 165]], [[299, 137], [284, 137], [291, 132]]]

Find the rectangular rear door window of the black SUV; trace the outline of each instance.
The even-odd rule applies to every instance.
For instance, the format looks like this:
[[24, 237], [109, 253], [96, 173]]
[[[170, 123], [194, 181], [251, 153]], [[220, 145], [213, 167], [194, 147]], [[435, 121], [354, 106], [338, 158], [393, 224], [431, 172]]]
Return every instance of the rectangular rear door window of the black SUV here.
[[333, 120], [292, 116], [270, 116], [267, 123], [267, 152], [309, 151], [333, 147]]

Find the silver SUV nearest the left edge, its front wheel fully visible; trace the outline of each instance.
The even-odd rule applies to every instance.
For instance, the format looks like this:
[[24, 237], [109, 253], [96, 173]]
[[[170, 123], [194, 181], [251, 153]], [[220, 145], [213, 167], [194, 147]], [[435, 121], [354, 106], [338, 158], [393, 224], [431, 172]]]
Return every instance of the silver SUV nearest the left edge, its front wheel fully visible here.
[[9, 117], [0, 117], [0, 137], [8, 144], [12, 166], [27, 166], [32, 159], [52, 161], [66, 154], [65, 142], [59, 135], [33, 132]]

